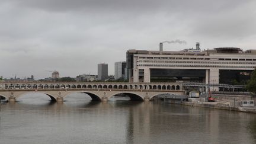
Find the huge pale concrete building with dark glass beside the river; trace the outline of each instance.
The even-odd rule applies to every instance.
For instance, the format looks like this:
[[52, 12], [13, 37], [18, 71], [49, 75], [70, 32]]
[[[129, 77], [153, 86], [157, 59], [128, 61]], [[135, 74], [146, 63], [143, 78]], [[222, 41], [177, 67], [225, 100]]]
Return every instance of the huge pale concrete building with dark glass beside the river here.
[[219, 47], [164, 51], [128, 50], [127, 75], [130, 82], [204, 82], [241, 84], [256, 67], [255, 50]]

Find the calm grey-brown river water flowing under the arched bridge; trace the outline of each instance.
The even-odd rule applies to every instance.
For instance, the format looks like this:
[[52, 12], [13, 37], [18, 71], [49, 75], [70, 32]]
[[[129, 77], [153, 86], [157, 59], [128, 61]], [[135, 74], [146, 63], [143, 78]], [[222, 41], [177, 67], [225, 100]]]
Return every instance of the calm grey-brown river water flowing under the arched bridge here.
[[121, 99], [1, 103], [0, 143], [256, 143], [256, 114]]

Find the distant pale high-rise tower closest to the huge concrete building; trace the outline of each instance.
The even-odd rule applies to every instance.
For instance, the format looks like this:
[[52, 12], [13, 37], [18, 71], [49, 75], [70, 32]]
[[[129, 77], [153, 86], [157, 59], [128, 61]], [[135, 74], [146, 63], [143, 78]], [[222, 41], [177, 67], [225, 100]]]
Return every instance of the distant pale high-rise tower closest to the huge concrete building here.
[[114, 79], [125, 79], [126, 62], [115, 62]]

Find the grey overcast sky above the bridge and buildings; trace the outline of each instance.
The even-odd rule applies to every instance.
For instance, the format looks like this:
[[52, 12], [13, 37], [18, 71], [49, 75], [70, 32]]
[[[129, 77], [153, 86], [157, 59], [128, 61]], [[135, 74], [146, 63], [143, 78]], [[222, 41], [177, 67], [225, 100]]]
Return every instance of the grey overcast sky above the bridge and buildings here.
[[97, 74], [97, 63], [126, 60], [128, 49], [256, 49], [251, 0], [1, 0], [0, 75]]

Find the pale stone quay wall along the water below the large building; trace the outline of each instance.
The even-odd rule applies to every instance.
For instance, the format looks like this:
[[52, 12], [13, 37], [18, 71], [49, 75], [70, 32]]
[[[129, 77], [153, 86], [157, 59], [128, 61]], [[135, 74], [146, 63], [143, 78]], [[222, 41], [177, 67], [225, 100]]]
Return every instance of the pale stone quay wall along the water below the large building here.
[[191, 107], [205, 107], [205, 108], [215, 108], [220, 110], [233, 110], [233, 111], [241, 111], [247, 113], [256, 113], [256, 107], [234, 107], [229, 105], [229, 103], [220, 103], [220, 102], [188, 102], [183, 101], [181, 105], [188, 105]]

